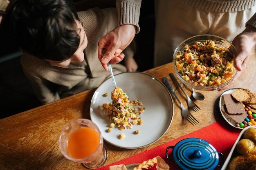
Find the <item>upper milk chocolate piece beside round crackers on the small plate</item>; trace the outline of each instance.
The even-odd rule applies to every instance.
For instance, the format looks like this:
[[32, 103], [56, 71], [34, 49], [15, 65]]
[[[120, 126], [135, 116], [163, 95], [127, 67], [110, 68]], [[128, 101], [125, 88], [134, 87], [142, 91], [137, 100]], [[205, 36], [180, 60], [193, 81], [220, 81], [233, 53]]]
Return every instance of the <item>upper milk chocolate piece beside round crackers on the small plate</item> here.
[[223, 99], [227, 108], [227, 113], [231, 115], [239, 115], [245, 112], [245, 108], [243, 106], [243, 102], [237, 102], [233, 99], [231, 94], [223, 95]]

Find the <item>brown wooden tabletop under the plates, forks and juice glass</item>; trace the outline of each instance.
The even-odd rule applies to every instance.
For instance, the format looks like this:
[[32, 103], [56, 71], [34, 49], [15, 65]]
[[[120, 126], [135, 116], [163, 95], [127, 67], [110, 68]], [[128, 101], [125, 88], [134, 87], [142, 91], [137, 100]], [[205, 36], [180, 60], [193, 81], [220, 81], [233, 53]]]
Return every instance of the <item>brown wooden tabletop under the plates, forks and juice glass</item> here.
[[[256, 93], [255, 61], [256, 56], [252, 53], [242, 76], [229, 88], [249, 88]], [[144, 73], [152, 75], [160, 81], [163, 77], [171, 80], [168, 74], [174, 73], [173, 63], [150, 69]], [[171, 83], [177, 89], [178, 96], [186, 106], [185, 95], [173, 84], [172, 80]], [[191, 95], [191, 89], [186, 88], [184, 84], [182, 86]], [[0, 119], [0, 170], [86, 169], [79, 163], [69, 161], [61, 154], [58, 148], [58, 137], [61, 129], [69, 121], [79, 118], [90, 119], [90, 101], [95, 90], [91, 89], [51, 104]], [[202, 93], [206, 99], [195, 101], [201, 110], [199, 112], [191, 110], [200, 124], [193, 126], [188, 121], [183, 120], [180, 114], [180, 104], [173, 97], [175, 114], [166, 134], [154, 144], [139, 149], [117, 148], [105, 142], [109, 154], [105, 165], [159, 146], [222, 119], [218, 107], [222, 92], [206, 91]]]

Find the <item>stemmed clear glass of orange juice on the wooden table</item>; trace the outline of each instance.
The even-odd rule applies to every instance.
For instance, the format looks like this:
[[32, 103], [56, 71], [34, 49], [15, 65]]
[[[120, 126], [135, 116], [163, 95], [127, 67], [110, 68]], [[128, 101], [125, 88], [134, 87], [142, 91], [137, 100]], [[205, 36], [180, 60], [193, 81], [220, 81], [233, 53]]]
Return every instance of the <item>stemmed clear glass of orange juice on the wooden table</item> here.
[[59, 137], [61, 153], [86, 168], [96, 169], [106, 162], [108, 150], [96, 124], [89, 119], [76, 119], [68, 123]]

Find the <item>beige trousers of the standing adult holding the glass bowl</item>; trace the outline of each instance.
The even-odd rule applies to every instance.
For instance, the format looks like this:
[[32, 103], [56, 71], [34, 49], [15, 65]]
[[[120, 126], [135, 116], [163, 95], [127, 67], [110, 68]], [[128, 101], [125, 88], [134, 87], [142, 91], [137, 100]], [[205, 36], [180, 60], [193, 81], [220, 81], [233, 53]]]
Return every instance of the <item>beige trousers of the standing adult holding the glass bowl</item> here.
[[244, 11], [216, 13], [195, 9], [179, 0], [155, 0], [154, 66], [172, 62], [175, 48], [194, 35], [213, 34], [232, 42], [254, 13], [256, 6]]

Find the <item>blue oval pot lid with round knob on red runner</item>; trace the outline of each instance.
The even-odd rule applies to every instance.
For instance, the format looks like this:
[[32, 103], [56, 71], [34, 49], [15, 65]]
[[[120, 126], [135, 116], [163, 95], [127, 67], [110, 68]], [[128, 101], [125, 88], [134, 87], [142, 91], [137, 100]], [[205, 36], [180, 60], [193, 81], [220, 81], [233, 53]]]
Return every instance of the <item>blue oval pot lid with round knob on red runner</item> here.
[[219, 163], [216, 149], [198, 138], [179, 141], [173, 147], [173, 159], [183, 170], [213, 170]]

